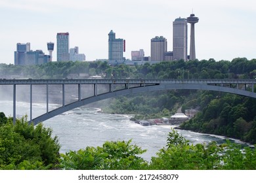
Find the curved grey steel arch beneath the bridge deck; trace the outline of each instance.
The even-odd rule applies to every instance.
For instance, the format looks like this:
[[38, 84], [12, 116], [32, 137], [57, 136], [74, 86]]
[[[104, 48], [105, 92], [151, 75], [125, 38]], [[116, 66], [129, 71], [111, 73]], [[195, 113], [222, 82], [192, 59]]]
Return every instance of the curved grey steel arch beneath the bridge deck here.
[[54, 116], [67, 112], [68, 110], [72, 110], [74, 108], [81, 107], [89, 103], [94, 103], [96, 101], [101, 101], [103, 99], [117, 97], [120, 95], [129, 95], [129, 94], [142, 93], [142, 92], [154, 92], [154, 91], [160, 91], [160, 90], [210, 90], [215, 92], [234, 93], [238, 95], [244, 95], [247, 97], [256, 98], [256, 93], [253, 93], [253, 92], [247, 92], [245, 90], [238, 90], [235, 88], [228, 88], [223, 86], [213, 86], [208, 84], [158, 84], [158, 85], [150, 85], [150, 86], [138, 86], [134, 88], [116, 90], [113, 92], [101, 93], [98, 95], [94, 95], [92, 97], [81, 99], [80, 101], [75, 101], [74, 103], [64, 105], [62, 107], [51, 110], [50, 112], [42, 114], [41, 116], [34, 118], [32, 122], [34, 125], [37, 125], [40, 122], [49, 120], [50, 118], [53, 118]]

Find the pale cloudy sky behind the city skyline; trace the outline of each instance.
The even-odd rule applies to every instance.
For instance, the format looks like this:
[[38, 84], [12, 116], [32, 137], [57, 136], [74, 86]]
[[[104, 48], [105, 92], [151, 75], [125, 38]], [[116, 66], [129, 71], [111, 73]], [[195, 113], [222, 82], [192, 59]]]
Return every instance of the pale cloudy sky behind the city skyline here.
[[[124, 57], [143, 49], [150, 56], [150, 39], [163, 36], [173, 50], [173, 21], [192, 12], [196, 58], [216, 61], [256, 58], [256, 6], [253, 0], [1, 0], [0, 63], [14, 63], [16, 43], [47, 51], [56, 34], [70, 33], [70, 48], [79, 47], [87, 61], [108, 58], [108, 33], [125, 39]], [[188, 53], [190, 24], [188, 24]]]

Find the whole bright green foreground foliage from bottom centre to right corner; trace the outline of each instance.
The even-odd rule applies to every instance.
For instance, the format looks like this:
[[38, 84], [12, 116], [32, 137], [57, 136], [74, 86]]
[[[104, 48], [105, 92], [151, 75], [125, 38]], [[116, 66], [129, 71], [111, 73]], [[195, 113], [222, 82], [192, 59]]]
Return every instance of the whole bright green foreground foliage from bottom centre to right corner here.
[[159, 150], [150, 162], [140, 158], [145, 152], [131, 141], [105, 142], [102, 147], [87, 147], [85, 150], [62, 154], [63, 169], [93, 170], [221, 170], [256, 169], [255, 148], [226, 144], [189, 144], [177, 131], [172, 130], [167, 145]]

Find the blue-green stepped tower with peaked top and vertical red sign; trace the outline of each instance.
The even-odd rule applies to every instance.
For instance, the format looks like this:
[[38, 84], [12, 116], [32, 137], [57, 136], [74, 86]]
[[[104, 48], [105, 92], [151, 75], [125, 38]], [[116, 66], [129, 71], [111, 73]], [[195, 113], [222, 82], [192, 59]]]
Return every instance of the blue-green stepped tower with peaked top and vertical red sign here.
[[116, 39], [116, 33], [112, 30], [108, 34], [108, 60], [123, 61], [123, 52], [125, 51], [125, 41]]

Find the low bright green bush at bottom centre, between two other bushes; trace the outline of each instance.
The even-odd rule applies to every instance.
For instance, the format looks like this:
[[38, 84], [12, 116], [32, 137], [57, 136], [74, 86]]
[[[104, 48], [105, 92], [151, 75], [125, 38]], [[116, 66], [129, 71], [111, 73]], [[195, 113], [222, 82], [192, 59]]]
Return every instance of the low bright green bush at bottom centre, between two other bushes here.
[[139, 154], [146, 152], [128, 142], [105, 142], [102, 147], [87, 147], [62, 154], [63, 169], [68, 170], [136, 170], [143, 169], [147, 163]]

